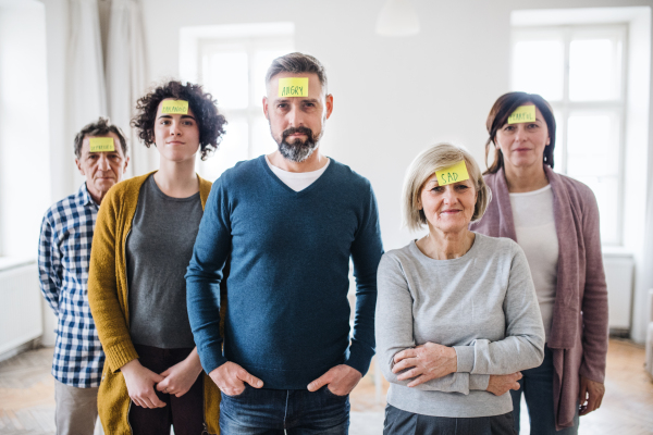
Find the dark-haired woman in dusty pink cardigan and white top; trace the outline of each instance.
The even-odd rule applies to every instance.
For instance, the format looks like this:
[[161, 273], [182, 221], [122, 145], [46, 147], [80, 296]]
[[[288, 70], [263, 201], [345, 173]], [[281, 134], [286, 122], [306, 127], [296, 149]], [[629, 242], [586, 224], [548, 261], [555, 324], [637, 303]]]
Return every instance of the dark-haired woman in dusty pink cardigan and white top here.
[[[470, 229], [509, 237], [531, 269], [546, 347], [541, 366], [522, 372], [512, 390], [515, 425], [526, 397], [534, 434], [577, 434], [578, 417], [605, 391], [607, 290], [599, 208], [592, 190], [553, 172], [555, 119], [540, 96], [509, 92], [488, 116], [484, 174], [493, 201]], [[560, 432], [556, 432], [560, 431]]]

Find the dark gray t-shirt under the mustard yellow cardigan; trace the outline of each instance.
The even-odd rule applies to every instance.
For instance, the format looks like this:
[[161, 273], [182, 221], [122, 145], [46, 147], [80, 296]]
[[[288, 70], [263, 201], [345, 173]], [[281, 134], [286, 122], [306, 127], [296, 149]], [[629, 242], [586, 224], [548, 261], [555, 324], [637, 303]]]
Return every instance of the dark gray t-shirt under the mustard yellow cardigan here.
[[151, 175], [143, 184], [126, 245], [134, 344], [164, 349], [195, 347], [184, 274], [201, 215], [199, 192], [171, 198]]

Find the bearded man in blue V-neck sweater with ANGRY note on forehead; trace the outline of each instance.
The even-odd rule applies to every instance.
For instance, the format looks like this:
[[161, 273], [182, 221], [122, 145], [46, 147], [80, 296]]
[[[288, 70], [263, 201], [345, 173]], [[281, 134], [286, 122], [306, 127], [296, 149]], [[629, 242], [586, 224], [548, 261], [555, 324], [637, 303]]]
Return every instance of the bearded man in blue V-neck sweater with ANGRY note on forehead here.
[[263, 112], [279, 150], [213, 185], [186, 274], [190, 326], [222, 390], [223, 433], [347, 434], [348, 394], [374, 353], [377, 200], [366, 178], [320, 152], [333, 111], [322, 64], [286, 54], [266, 82]]

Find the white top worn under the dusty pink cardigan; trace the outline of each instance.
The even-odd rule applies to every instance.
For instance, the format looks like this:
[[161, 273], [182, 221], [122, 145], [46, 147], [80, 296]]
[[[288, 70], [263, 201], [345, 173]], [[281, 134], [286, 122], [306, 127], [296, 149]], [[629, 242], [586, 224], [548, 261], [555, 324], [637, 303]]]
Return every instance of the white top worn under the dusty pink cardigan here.
[[510, 194], [517, 243], [523, 249], [535, 284], [546, 340], [557, 286], [558, 240], [551, 185], [523, 194]]

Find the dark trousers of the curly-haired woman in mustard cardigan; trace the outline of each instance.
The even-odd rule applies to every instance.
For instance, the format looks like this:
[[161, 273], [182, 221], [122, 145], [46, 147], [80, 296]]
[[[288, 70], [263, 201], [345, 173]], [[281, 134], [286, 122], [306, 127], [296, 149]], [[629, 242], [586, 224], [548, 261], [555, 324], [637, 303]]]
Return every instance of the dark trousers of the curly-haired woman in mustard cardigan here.
[[[162, 373], [176, 363], [182, 362], [193, 351], [184, 349], [160, 349], [158, 347], [134, 345], [140, 364], [155, 373]], [[200, 435], [204, 431], [204, 384], [202, 376], [188, 393], [182, 397], [157, 391], [163, 408], [141, 408], [132, 402], [130, 407], [130, 425], [134, 435], [170, 435], [170, 426], [174, 426], [175, 435]]]

